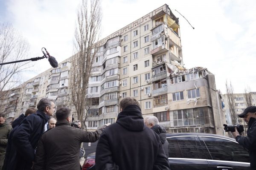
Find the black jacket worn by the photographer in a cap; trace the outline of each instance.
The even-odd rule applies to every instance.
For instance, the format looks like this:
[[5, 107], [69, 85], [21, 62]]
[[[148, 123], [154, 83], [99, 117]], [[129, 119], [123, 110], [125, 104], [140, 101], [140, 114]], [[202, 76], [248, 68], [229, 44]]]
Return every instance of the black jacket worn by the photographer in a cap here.
[[236, 141], [249, 150], [250, 169], [256, 170], [256, 119], [250, 118], [247, 137], [237, 136]]

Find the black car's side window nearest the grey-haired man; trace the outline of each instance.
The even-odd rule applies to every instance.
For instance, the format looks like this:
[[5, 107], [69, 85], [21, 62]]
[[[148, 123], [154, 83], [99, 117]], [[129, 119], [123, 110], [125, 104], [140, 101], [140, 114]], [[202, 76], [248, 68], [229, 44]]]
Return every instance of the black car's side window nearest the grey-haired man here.
[[167, 138], [169, 158], [201, 159], [202, 149], [196, 138], [195, 136]]

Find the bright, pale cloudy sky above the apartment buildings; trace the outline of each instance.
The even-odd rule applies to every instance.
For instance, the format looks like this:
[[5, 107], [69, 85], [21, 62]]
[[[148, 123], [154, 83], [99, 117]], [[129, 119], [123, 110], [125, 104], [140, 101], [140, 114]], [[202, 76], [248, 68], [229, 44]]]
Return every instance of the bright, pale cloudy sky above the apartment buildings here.
[[[27, 58], [43, 56], [58, 62], [73, 55], [76, 11], [81, 0], [0, 0], [0, 23], [9, 22], [29, 42]], [[186, 68], [204, 67], [215, 74], [216, 88], [226, 93], [256, 91], [255, 0], [102, 0], [101, 38], [167, 4], [179, 18]], [[180, 15], [180, 12], [195, 29]], [[47, 59], [33, 62], [26, 80], [51, 66]]]

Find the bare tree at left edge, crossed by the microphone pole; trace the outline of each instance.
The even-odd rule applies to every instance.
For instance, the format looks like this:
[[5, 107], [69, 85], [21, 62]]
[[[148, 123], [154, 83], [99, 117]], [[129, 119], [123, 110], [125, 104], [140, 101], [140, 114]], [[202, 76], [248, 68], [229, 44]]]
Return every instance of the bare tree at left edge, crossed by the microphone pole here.
[[[0, 23], [0, 63], [26, 59], [29, 44], [9, 23]], [[9, 102], [9, 90], [21, 84], [21, 74], [28, 62], [0, 65], [0, 109], [8, 113], [13, 102]], [[6, 101], [7, 100], [7, 101]]]

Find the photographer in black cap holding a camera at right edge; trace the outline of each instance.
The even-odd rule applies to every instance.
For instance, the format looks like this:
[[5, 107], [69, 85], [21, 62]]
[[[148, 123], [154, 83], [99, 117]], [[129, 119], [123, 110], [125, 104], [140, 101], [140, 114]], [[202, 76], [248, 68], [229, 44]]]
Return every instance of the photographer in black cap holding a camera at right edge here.
[[239, 132], [232, 132], [236, 141], [249, 150], [250, 169], [256, 170], [256, 106], [250, 106], [238, 115], [243, 118], [248, 125], [247, 137], [240, 136]]

